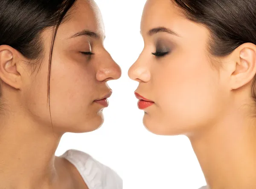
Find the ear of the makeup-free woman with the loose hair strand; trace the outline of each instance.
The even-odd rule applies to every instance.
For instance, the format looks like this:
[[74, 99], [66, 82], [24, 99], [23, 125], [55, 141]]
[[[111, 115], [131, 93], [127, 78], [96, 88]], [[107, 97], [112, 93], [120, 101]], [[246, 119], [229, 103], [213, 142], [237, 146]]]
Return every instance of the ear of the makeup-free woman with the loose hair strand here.
[[0, 46], [0, 79], [15, 89], [19, 89], [21, 85], [21, 75], [17, 71], [17, 64], [20, 60], [17, 56], [16, 49], [8, 45]]

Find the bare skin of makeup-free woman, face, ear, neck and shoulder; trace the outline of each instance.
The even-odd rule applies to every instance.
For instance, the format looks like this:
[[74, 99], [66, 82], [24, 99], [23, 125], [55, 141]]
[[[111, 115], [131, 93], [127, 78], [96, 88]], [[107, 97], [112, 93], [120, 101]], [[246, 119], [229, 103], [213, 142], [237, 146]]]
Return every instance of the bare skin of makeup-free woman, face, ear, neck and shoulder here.
[[[39, 72], [17, 50], [0, 46], [0, 100], [5, 104], [0, 113], [0, 189], [87, 188], [74, 166], [55, 157], [55, 151], [65, 132], [89, 132], [102, 125], [103, 107], [93, 101], [111, 92], [107, 81], [119, 79], [121, 70], [103, 47], [98, 7], [92, 0], [77, 0], [69, 20], [58, 28], [53, 48], [51, 119], [52, 32], [49, 28], [41, 35], [45, 53]], [[81, 53], [89, 51], [94, 54]]]

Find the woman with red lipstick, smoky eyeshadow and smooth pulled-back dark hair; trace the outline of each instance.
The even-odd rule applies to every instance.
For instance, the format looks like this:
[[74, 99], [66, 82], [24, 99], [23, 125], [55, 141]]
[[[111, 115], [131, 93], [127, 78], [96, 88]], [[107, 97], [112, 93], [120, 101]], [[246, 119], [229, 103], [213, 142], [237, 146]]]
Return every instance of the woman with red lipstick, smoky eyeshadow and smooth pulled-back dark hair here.
[[145, 127], [189, 138], [205, 189], [256, 189], [256, 1], [147, 0], [141, 33]]

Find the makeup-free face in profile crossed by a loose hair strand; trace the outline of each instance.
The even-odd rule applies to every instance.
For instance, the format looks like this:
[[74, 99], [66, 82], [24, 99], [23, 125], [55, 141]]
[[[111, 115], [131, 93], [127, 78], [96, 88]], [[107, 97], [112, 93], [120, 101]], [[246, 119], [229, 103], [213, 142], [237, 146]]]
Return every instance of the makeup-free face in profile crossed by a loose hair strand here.
[[[103, 47], [104, 26], [96, 4], [77, 0], [70, 11], [69, 19], [58, 28], [52, 53], [52, 125], [55, 132], [87, 132], [102, 125], [102, 109], [108, 104], [95, 101], [111, 95], [106, 81], [118, 79], [121, 70]], [[41, 70], [27, 77], [25, 90], [27, 109], [46, 125], [51, 125], [47, 77], [52, 31], [42, 34], [45, 54]]]

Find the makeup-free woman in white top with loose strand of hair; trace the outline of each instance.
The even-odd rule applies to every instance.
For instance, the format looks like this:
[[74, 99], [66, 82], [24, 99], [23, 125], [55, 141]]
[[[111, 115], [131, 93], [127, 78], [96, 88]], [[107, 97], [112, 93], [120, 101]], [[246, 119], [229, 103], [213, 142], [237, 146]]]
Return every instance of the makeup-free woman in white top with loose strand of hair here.
[[0, 189], [122, 189], [81, 151], [55, 157], [66, 132], [94, 131], [119, 66], [93, 0], [1, 0]]

